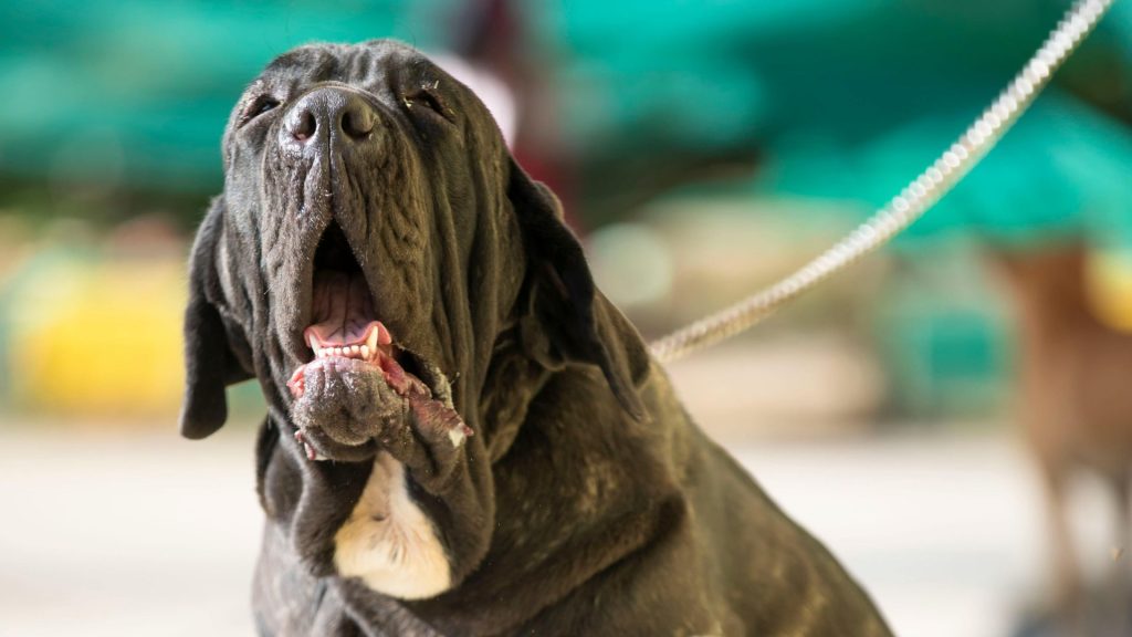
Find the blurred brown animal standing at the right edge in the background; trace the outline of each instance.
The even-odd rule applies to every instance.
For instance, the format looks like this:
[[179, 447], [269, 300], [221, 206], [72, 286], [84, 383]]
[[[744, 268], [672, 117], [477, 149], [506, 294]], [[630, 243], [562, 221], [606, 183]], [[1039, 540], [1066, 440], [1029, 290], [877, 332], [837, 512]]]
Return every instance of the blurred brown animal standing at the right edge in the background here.
[[[1057, 612], [1077, 634], [1126, 635], [1121, 630], [1129, 628], [1130, 601], [1132, 331], [1104, 311], [1112, 304], [1090, 277], [1083, 247], [1013, 252], [998, 262], [1017, 300], [1018, 417], [1048, 503]], [[1112, 572], [1097, 595], [1084, 581], [1067, 510], [1078, 472], [1099, 477], [1116, 506]]]

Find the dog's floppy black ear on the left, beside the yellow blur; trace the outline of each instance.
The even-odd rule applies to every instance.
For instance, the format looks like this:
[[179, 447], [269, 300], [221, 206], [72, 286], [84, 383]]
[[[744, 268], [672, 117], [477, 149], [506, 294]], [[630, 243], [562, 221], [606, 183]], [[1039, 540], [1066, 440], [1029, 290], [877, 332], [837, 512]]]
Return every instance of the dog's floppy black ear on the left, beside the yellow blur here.
[[216, 244], [223, 228], [224, 203], [213, 201], [197, 230], [189, 260], [189, 305], [185, 311], [185, 402], [181, 435], [205, 438], [228, 419], [224, 388], [251, 377], [229, 345], [220, 311], [212, 299], [221, 294], [216, 274]]

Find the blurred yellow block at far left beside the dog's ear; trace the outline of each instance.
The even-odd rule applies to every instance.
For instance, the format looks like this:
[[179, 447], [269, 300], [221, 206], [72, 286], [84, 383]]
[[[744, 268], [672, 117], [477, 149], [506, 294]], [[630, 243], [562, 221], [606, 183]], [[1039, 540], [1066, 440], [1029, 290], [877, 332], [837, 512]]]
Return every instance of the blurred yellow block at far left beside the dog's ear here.
[[96, 417], [175, 415], [183, 382], [180, 258], [41, 264], [11, 301], [22, 407]]

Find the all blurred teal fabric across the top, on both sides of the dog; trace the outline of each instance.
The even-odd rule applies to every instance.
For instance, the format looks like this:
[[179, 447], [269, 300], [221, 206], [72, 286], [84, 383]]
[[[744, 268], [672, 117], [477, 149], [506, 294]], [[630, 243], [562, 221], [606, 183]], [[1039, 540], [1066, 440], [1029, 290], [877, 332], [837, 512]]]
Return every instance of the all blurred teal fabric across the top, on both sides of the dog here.
[[[310, 40], [439, 48], [466, 5], [8, 3], [0, 176], [213, 192], [228, 111], [272, 57]], [[758, 170], [732, 188], [840, 202], [849, 215], [883, 204], [949, 144], [1067, 5], [513, 2], [552, 76], [583, 178], [757, 150]], [[1034, 112], [909, 240], [961, 229], [1006, 241], [1082, 229], [1132, 237], [1130, 66], [1132, 5], [1117, 2]], [[593, 202], [578, 203], [584, 214]]]

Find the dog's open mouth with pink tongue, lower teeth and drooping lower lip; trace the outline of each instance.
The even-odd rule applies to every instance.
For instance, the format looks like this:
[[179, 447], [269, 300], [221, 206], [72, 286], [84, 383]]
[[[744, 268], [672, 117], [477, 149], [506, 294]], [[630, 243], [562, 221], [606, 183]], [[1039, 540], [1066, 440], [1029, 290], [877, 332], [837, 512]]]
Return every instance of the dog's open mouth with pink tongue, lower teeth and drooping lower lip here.
[[[303, 341], [310, 359], [288, 381], [303, 414], [295, 439], [311, 460], [353, 455], [372, 447], [363, 414], [396, 411], [440, 402], [452, 409], [448, 380], [435, 366], [395, 343], [378, 318], [369, 281], [354, 257], [345, 232], [336, 223], [323, 233], [315, 250], [310, 324]], [[359, 388], [372, 382], [387, 388]], [[316, 416], [317, 415], [317, 416]]]

